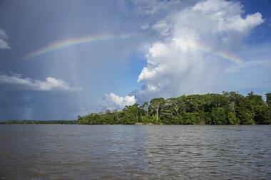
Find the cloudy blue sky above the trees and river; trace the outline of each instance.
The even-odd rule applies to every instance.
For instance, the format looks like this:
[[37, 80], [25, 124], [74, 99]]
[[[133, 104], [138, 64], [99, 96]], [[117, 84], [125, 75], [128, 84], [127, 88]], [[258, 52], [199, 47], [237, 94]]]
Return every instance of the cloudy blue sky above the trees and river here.
[[[0, 120], [271, 89], [271, 1], [0, 1]], [[29, 53], [71, 38], [32, 58]], [[118, 38], [123, 36], [125, 38]]]

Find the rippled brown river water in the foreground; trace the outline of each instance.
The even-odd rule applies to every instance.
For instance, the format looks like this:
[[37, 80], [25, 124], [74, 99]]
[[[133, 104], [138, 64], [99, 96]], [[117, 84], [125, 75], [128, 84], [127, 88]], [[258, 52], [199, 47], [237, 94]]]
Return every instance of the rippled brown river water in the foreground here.
[[271, 179], [271, 126], [0, 125], [0, 179]]

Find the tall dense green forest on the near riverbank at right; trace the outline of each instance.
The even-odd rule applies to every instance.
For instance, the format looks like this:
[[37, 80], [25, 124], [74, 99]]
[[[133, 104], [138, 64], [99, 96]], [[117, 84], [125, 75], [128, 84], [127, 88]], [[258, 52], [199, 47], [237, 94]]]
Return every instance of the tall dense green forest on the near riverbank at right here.
[[266, 101], [250, 92], [155, 98], [123, 110], [78, 116], [78, 125], [270, 125], [271, 93]]

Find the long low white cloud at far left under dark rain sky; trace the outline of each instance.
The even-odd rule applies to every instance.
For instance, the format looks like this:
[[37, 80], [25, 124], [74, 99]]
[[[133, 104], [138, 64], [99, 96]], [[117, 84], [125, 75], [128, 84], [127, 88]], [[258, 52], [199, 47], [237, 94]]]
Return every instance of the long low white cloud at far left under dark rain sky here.
[[78, 91], [80, 87], [72, 87], [61, 79], [52, 77], [46, 80], [31, 80], [22, 78], [20, 74], [4, 75], [0, 74], [0, 88], [6, 90], [27, 90], [27, 91]]

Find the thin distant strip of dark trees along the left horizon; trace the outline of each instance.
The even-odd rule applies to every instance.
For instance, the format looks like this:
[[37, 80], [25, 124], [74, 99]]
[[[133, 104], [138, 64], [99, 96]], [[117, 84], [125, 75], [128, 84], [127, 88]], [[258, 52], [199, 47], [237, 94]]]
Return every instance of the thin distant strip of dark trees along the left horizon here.
[[10, 120], [0, 122], [0, 125], [76, 125], [76, 120], [48, 120], [48, 121], [37, 121], [37, 120]]

